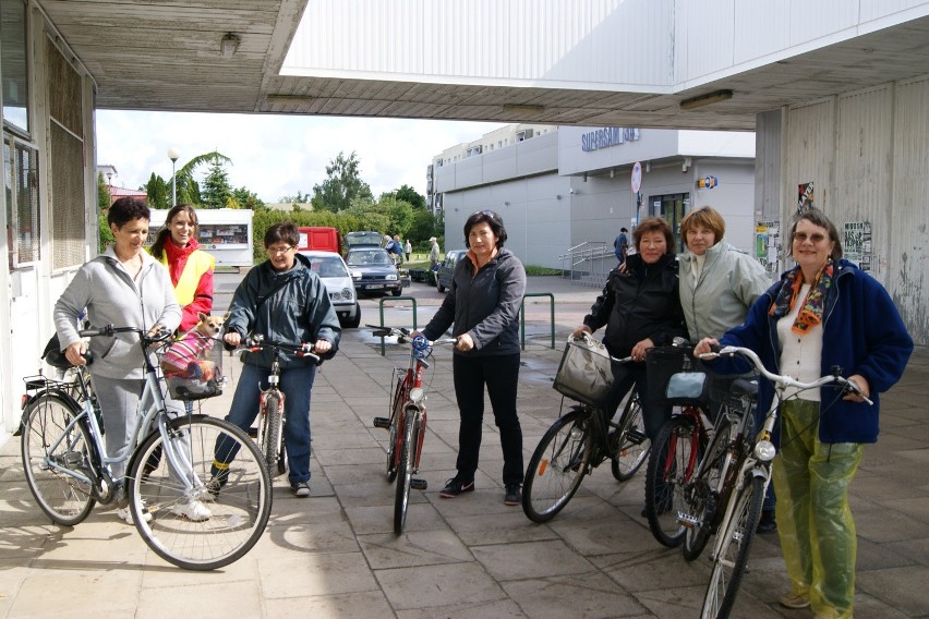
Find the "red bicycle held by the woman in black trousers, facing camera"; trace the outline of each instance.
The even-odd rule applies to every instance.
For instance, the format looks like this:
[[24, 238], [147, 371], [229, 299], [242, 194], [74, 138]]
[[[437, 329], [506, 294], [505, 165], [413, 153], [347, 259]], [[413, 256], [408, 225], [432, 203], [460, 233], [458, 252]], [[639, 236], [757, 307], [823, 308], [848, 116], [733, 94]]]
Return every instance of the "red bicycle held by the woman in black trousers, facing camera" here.
[[390, 416], [374, 417], [374, 427], [389, 430], [387, 441], [387, 482], [397, 480], [394, 497], [394, 533], [403, 533], [410, 489], [425, 490], [425, 480], [413, 478], [419, 473], [426, 428], [423, 371], [430, 367], [429, 357], [435, 345], [455, 344], [458, 338], [429, 341], [424, 336], [410, 337], [410, 330], [397, 327], [373, 328], [375, 337], [396, 336], [398, 343], [410, 344], [410, 361], [406, 369], [394, 368], [394, 390], [390, 393]]

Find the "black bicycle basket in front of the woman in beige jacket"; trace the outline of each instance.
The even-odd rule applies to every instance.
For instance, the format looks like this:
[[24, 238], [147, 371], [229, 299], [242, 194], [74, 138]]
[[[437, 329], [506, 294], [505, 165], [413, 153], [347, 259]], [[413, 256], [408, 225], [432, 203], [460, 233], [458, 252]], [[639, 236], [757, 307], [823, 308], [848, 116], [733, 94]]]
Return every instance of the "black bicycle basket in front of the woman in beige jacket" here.
[[648, 399], [678, 406], [709, 404], [709, 381], [691, 347], [657, 347], [646, 353]]

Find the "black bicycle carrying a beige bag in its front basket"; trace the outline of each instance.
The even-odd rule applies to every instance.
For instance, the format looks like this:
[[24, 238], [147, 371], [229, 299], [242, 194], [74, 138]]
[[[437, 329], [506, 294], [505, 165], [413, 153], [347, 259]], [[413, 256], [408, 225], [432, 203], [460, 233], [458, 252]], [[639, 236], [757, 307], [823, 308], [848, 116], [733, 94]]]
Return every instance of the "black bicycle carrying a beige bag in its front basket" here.
[[[610, 359], [615, 363], [632, 360]], [[533, 522], [552, 520], [575, 496], [584, 475], [590, 475], [604, 460], [611, 460], [613, 476], [625, 482], [649, 454], [642, 405], [635, 387], [616, 422], [607, 417], [601, 403], [578, 402], [552, 424], [529, 459], [522, 511]]]

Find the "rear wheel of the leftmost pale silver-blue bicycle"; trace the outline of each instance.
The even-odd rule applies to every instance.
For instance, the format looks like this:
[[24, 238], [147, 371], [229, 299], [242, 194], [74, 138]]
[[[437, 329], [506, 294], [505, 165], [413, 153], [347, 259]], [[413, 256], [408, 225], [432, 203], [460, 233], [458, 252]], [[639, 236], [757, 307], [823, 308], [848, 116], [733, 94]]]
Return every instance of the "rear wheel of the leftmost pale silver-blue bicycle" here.
[[89, 483], [60, 470], [91, 475], [91, 436], [82, 424], [74, 423], [80, 412], [70, 398], [40, 393], [23, 414], [20, 445], [26, 483], [39, 508], [64, 526], [87, 518], [96, 502]]

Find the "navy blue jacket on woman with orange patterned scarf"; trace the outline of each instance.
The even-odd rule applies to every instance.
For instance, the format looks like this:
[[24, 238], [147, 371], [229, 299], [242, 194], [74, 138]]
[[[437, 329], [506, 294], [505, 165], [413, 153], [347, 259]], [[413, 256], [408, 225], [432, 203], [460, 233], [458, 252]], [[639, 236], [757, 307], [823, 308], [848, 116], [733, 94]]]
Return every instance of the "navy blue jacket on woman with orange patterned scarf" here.
[[[723, 345], [753, 350], [764, 367], [776, 374], [781, 374], [777, 319], [769, 316], [768, 312], [788, 272], [751, 306], [744, 325], [720, 339]], [[840, 367], [842, 376], [864, 376], [870, 386], [869, 398], [874, 404], [843, 400], [834, 387], [822, 387], [820, 442], [876, 442], [880, 432], [880, 393], [900, 380], [912, 352], [913, 339], [886, 290], [848, 260], [836, 260], [833, 283], [823, 307], [820, 373], [825, 376], [832, 374], [833, 367]], [[713, 365], [717, 363], [722, 367], [734, 365], [724, 360]], [[767, 412], [773, 397], [773, 385], [761, 379], [758, 410]]]

